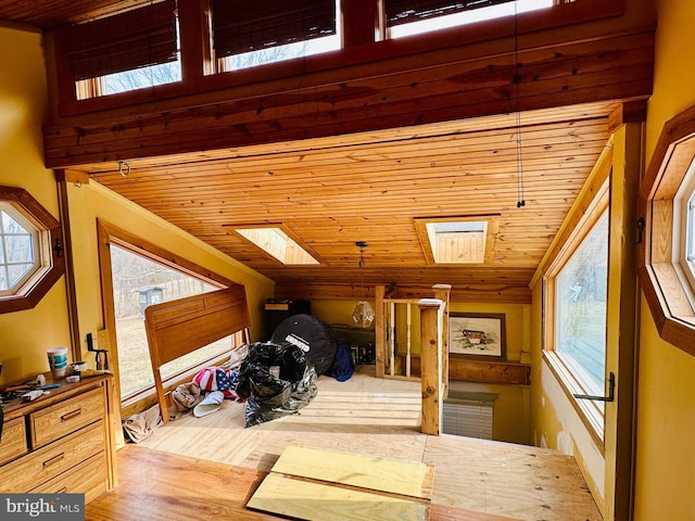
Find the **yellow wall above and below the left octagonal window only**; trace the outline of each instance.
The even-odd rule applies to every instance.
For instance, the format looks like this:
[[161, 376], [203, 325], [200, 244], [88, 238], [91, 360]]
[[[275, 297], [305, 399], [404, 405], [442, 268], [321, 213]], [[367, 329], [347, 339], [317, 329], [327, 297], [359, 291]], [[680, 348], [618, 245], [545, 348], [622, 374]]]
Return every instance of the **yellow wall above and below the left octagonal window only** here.
[[[0, 28], [0, 185], [28, 190], [58, 217], [53, 173], [43, 168], [41, 36]], [[48, 371], [46, 350], [58, 345], [70, 345], [64, 278], [36, 308], [0, 315], [0, 384]]]

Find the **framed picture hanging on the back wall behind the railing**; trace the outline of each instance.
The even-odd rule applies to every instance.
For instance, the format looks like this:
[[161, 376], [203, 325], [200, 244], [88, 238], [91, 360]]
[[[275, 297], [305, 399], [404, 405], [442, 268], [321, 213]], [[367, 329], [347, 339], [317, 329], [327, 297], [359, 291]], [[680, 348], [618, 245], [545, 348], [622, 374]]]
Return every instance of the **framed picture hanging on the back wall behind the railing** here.
[[507, 334], [504, 313], [451, 313], [448, 353], [504, 360]]

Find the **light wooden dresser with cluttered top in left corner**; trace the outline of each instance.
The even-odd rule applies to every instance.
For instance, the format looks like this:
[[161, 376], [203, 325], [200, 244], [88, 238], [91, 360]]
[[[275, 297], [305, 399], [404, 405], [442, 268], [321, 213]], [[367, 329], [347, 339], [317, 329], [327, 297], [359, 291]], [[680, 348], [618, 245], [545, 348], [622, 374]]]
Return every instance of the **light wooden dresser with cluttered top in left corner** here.
[[111, 376], [96, 377], [61, 382], [34, 402], [7, 403], [0, 493], [84, 493], [89, 503], [112, 490], [111, 387]]

